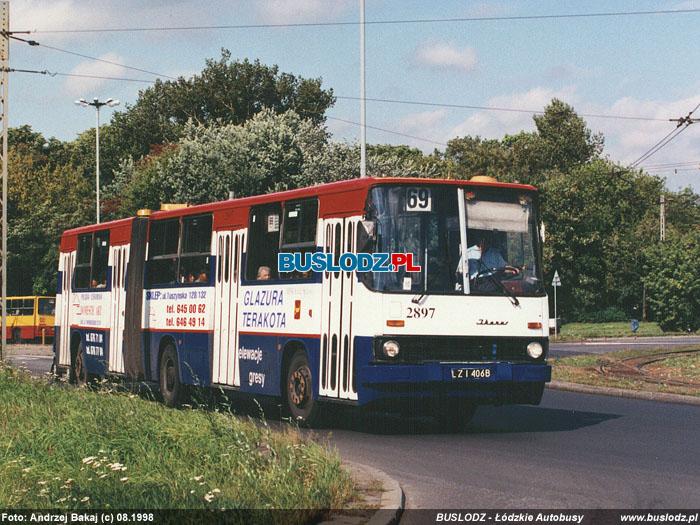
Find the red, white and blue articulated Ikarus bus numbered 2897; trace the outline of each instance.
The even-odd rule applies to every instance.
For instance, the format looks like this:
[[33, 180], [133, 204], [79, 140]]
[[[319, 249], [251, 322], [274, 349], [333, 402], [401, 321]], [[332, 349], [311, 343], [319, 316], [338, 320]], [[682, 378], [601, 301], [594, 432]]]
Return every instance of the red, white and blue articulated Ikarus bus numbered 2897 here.
[[[405, 402], [452, 425], [540, 402], [535, 188], [364, 178], [175, 208], [63, 234], [61, 373], [158, 382], [171, 406], [188, 385], [276, 396], [308, 424], [333, 402]], [[330, 266], [279, 271], [280, 253], [309, 252]], [[339, 266], [360, 253], [412, 266]]]

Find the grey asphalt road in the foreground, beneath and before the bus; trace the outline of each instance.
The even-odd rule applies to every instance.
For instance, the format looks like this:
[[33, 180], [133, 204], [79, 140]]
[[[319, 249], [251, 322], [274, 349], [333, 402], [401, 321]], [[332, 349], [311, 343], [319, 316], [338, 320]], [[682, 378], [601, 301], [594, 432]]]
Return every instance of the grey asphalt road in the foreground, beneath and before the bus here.
[[480, 407], [460, 434], [354, 419], [331, 446], [394, 477], [408, 508], [700, 507], [700, 407], [547, 390], [538, 407]]

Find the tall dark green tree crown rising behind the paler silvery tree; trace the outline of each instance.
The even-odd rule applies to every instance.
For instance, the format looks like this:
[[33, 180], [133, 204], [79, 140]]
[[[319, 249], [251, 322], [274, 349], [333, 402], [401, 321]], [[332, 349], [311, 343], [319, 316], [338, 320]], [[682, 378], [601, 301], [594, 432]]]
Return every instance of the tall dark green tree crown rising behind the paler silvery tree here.
[[231, 61], [231, 53], [222, 49], [221, 58], [207, 60], [201, 74], [157, 80], [141, 91], [136, 104], [114, 114], [111, 126], [120, 151], [138, 159], [153, 145], [177, 141], [189, 120], [236, 125], [268, 108], [277, 114], [293, 110], [318, 124], [335, 102], [333, 90], [321, 84], [320, 78], [280, 73], [258, 60]]

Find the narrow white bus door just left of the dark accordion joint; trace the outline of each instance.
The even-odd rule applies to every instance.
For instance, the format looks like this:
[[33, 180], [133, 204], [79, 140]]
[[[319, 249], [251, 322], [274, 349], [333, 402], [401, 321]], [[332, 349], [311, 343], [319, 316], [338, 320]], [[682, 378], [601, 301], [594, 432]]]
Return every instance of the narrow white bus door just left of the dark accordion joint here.
[[129, 261], [129, 246], [112, 249], [112, 296], [109, 326], [110, 372], [124, 373], [124, 312], [126, 307], [126, 266]]

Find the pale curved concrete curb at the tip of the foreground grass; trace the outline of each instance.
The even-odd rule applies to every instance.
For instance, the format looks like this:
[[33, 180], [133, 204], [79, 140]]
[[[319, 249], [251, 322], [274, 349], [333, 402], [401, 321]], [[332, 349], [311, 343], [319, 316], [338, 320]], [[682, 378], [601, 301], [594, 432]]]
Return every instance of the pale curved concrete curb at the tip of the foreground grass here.
[[[392, 525], [399, 522], [406, 498], [398, 481], [369, 465], [343, 461], [352, 476], [361, 501], [335, 511], [322, 525]], [[370, 508], [367, 508], [370, 507]]]

